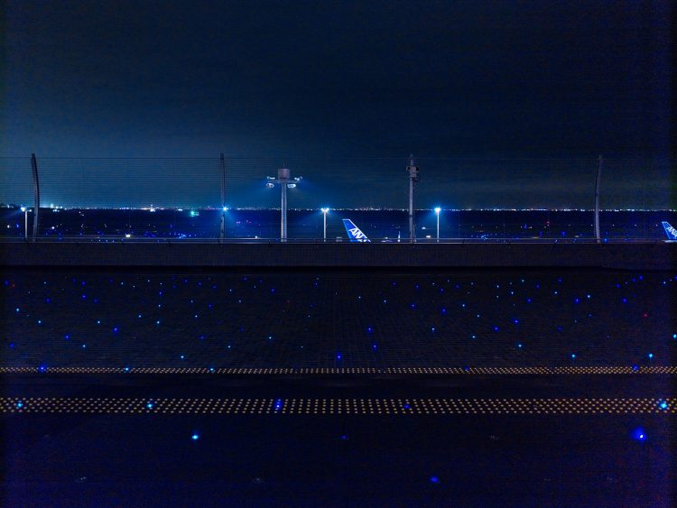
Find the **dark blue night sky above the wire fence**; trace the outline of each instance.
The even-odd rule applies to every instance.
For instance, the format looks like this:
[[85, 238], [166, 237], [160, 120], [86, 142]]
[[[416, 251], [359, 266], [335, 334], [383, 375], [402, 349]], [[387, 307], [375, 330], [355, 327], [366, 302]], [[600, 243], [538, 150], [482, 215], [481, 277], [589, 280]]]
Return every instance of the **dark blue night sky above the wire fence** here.
[[[667, 1], [10, 1], [0, 147], [280, 161], [245, 164], [261, 177], [301, 157], [370, 179], [385, 164], [338, 161], [410, 152], [496, 161], [467, 179], [454, 173], [453, 189], [440, 183], [453, 164], [438, 164], [428, 181], [442, 195], [487, 188], [496, 171], [505, 180], [501, 158], [594, 162], [601, 152], [634, 161], [614, 179], [626, 195], [637, 161], [665, 189], [669, 164], [656, 161], [671, 147], [670, 16]], [[515, 171], [523, 180], [536, 171], [554, 195], [562, 181], [543, 179], [547, 168]], [[502, 192], [509, 205], [532, 203], [519, 183]], [[385, 206], [401, 198], [385, 194]], [[663, 197], [657, 206], [670, 204]], [[487, 200], [480, 190], [471, 199]]]

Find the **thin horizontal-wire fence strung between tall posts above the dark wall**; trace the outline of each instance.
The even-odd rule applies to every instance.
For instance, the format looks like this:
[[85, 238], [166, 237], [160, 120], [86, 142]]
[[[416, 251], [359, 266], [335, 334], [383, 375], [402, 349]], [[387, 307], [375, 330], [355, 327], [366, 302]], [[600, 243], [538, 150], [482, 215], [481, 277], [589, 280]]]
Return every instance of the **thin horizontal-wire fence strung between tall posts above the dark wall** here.
[[[287, 193], [290, 238], [344, 235], [336, 220], [329, 221], [328, 231], [323, 229], [319, 212], [324, 207], [354, 210], [351, 217], [363, 221], [373, 235], [408, 236], [408, 157], [38, 156], [36, 162], [41, 207], [63, 210], [64, 214], [70, 209], [71, 215], [78, 214], [68, 221], [64, 221], [66, 215], [55, 220], [42, 214], [40, 236], [218, 237], [219, 215], [225, 206], [233, 212], [228, 216], [225, 236], [279, 237], [281, 192], [279, 185], [271, 188], [271, 180], [266, 177], [276, 177], [282, 167], [291, 171], [292, 178], [302, 177]], [[416, 158], [415, 164], [421, 176], [415, 189], [420, 238], [592, 235], [593, 216], [589, 210], [595, 203], [597, 158], [423, 157]], [[10, 207], [6, 209], [31, 208], [33, 189], [31, 157], [0, 158], [0, 203]], [[442, 210], [439, 232], [438, 217], [432, 213], [436, 207]], [[677, 208], [670, 163], [659, 159], [605, 158], [600, 207], [607, 210], [602, 214], [603, 235], [656, 237], [661, 233], [656, 217], [632, 215], [634, 212], [619, 217], [608, 210]], [[115, 217], [106, 216], [104, 211], [96, 216], [84, 211], [92, 208], [126, 211], [122, 214], [118, 210]], [[235, 213], [247, 209], [259, 213]], [[369, 211], [375, 209], [389, 211], [376, 217]], [[563, 209], [588, 211], [562, 216], [557, 210]], [[143, 210], [158, 213], [150, 221]], [[478, 215], [478, 210], [495, 212], [489, 217]], [[515, 210], [532, 211], [524, 216]], [[5, 217], [3, 236], [20, 236], [28, 231], [22, 217], [14, 215]], [[66, 222], [77, 224], [67, 227]], [[617, 223], [623, 223], [626, 229], [628, 224], [634, 226], [635, 233], [618, 230]]]

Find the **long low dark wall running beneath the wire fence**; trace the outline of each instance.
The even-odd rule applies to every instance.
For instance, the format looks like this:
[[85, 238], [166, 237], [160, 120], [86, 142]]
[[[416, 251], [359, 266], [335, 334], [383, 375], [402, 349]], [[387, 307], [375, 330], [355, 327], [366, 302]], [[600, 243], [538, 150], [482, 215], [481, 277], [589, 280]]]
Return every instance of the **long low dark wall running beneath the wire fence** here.
[[6, 266], [677, 268], [677, 244], [0, 244]]

